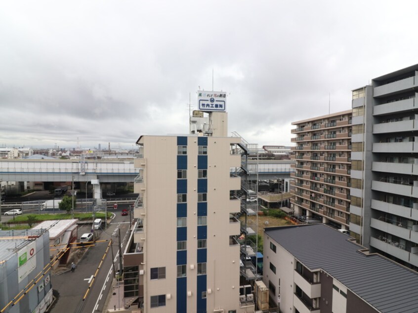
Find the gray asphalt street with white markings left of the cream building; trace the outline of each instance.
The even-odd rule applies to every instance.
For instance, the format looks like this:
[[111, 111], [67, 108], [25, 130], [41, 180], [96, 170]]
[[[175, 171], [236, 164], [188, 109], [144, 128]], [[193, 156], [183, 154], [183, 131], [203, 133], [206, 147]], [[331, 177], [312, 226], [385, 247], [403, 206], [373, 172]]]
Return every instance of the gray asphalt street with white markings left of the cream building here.
[[[99, 240], [110, 240], [112, 237], [116, 241], [112, 245], [116, 259], [116, 268], [118, 268], [119, 264], [119, 257], [116, 256], [119, 249], [117, 236], [119, 234], [118, 230], [120, 229], [121, 231], [123, 251], [125, 248], [124, 239], [127, 239], [127, 231], [130, 224], [129, 215], [121, 215], [121, 210], [126, 207], [127, 205], [119, 205], [119, 208], [114, 210], [116, 217], [112, 220], [109, 227], [106, 230], [98, 231]], [[83, 233], [88, 232], [90, 229], [91, 225], [79, 228], [79, 237]], [[112, 266], [112, 252], [110, 248], [108, 249], [107, 255], [104, 257], [108, 244], [109, 241], [105, 241], [97, 243], [95, 246], [84, 248], [87, 249], [87, 251], [78, 262], [74, 273], [68, 271], [64, 274], [52, 275], [52, 287], [59, 293], [59, 297], [57, 299], [58, 301], [51, 310], [52, 313], [94, 313], [103, 311], [104, 303], [108, 293], [111, 291], [111, 283], [114, 274]], [[104, 261], [98, 270], [103, 258]], [[94, 277], [96, 271], [97, 275]], [[91, 282], [91, 288], [88, 289]], [[85, 296], [86, 294], [87, 296]]]

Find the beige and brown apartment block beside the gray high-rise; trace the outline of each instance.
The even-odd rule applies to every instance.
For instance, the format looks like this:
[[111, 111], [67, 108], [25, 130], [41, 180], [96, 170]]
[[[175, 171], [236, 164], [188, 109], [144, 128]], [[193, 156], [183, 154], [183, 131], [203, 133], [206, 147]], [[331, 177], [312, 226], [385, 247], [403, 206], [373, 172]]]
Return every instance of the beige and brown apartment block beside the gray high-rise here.
[[291, 208], [301, 221], [348, 229], [351, 116], [348, 110], [292, 123]]

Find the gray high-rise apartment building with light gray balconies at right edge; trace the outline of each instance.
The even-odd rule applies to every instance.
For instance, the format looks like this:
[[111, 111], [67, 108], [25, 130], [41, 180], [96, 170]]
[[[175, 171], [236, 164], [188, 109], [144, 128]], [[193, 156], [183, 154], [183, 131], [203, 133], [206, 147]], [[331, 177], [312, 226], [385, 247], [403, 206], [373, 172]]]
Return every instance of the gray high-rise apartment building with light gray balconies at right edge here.
[[350, 234], [418, 268], [418, 64], [352, 92]]

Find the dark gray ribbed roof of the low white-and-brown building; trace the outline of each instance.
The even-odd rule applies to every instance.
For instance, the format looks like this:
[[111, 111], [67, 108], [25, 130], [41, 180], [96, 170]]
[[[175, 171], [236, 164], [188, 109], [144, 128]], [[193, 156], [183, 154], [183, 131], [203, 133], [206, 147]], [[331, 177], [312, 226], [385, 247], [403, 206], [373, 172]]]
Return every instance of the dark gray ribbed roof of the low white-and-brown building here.
[[310, 270], [323, 269], [384, 313], [418, 312], [418, 274], [378, 254], [365, 255], [324, 224], [265, 229]]

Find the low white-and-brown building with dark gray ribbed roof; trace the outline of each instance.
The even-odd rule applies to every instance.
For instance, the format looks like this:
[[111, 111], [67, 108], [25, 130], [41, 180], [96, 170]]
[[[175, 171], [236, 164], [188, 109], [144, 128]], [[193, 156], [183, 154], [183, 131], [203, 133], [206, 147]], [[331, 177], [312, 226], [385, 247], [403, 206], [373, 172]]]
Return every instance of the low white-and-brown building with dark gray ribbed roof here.
[[327, 225], [266, 228], [263, 242], [263, 281], [282, 313], [417, 312], [416, 272]]

